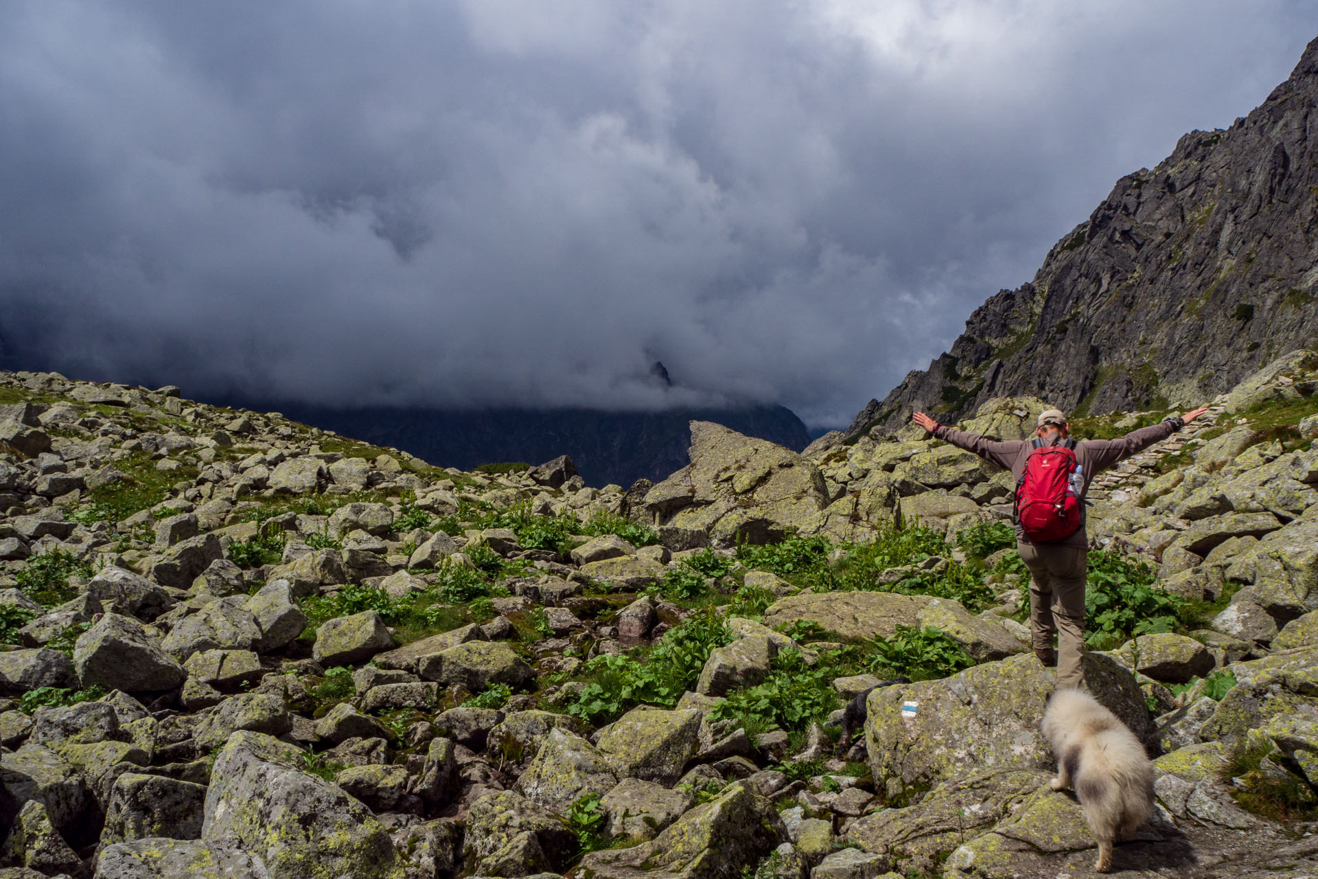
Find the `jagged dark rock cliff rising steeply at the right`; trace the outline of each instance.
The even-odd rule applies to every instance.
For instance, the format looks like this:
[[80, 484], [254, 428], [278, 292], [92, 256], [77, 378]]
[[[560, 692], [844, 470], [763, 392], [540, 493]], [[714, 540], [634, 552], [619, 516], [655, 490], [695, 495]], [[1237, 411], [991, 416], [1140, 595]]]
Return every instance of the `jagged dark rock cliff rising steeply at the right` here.
[[847, 434], [1007, 395], [1082, 414], [1189, 405], [1313, 347], [1315, 101], [1318, 41], [1247, 117], [1190, 132], [1119, 179], [1032, 282], [977, 308], [952, 351], [870, 401]]

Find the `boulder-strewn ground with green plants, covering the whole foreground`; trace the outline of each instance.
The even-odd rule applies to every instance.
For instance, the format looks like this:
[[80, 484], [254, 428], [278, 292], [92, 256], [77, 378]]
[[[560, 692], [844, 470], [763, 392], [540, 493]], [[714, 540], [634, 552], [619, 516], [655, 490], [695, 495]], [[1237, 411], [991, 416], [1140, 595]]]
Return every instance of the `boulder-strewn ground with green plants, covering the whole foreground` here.
[[[1094, 482], [1086, 681], [1157, 767], [1112, 875], [1318, 875], [1315, 391], [1286, 354]], [[1090, 875], [1010, 474], [916, 428], [693, 422], [592, 488], [0, 373], [0, 879]]]

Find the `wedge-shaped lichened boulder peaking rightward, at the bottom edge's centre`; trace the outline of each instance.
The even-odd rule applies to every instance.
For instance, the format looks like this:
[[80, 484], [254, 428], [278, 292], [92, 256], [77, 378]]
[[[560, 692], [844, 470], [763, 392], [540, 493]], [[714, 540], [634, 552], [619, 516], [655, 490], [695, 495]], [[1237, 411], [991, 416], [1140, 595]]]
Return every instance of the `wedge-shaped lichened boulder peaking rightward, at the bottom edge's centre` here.
[[731, 879], [786, 837], [772, 803], [734, 783], [652, 841], [588, 854], [580, 870], [593, 879]]

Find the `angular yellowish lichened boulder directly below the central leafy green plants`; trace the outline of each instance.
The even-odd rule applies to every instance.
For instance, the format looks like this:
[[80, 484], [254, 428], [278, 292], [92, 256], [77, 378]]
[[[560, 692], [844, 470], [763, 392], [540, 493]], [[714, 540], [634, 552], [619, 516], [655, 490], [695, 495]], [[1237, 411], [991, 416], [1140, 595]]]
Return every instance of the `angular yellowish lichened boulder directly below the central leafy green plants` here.
[[634, 708], [601, 730], [597, 747], [618, 778], [671, 785], [681, 778], [700, 738], [700, 712]]

